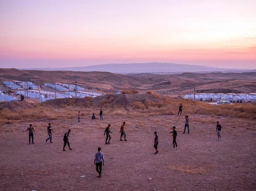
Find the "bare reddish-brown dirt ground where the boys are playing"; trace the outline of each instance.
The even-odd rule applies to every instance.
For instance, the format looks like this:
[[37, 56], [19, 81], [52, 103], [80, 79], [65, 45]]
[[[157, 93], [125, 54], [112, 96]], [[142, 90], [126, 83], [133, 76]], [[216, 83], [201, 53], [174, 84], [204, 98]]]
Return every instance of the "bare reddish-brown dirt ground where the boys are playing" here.
[[[216, 141], [216, 120], [223, 126]], [[126, 121], [127, 142], [119, 141]], [[184, 116], [104, 116], [52, 120], [53, 144], [46, 143], [49, 121], [5, 124], [0, 134], [0, 190], [255, 190], [256, 128], [232, 124], [232, 118], [190, 116], [190, 134], [182, 134]], [[34, 142], [28, 145], [32, 123]], [[111, 145], [104, 129], [111, 124]], [[177, 150], [171, 127], [176, 125]], [[246, 129], [247, 128], [247, 129]], [[72, 151], [63, 152], [63, 135]], [[153, 155], [158, 132], [159, 153]], [[102, 177], [93, 164], [97, 147], [105, 155]], [[66, 148], [67, 149], [67, 148]], [[80, 178], [85, 175], [85, 178]], [[152, 181], [149, 181], [149, 178]]]

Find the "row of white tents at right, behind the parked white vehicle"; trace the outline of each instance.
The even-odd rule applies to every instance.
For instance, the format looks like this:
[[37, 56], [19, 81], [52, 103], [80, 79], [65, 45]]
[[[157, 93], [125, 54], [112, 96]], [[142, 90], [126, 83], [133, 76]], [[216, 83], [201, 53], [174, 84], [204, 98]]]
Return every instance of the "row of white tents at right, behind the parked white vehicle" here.
[[[194, 94], [187, 94], [183, 97], [184, 99], [191, 99], [194, 100]], [[234, 97], [232, 95], [209, 95], [209, 94], [197, 94], [195, 95], [196, 101], [232, 101], [234, 102], [256, 102], [256, 95], [235, 95]]]

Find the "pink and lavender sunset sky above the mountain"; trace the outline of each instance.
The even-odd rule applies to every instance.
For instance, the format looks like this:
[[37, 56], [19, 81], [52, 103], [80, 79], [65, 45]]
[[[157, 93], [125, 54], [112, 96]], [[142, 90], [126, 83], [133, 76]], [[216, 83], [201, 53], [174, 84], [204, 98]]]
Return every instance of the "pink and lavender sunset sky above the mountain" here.
[[0, 0], [0, 68], [256, 69], [256, 0]]

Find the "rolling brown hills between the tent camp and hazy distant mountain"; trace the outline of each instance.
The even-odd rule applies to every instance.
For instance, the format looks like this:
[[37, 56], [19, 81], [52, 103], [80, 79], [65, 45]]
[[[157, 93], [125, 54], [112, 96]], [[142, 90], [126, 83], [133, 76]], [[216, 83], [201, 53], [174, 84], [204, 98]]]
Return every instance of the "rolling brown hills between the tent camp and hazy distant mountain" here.
[[0, 81], [28, 80], [42, 83], [73, 83], [93, 86], [108, 91], [110, 88], [133, 89], [142, 92], [148, 90], [167, 95], [184, 95], [191, 93], [196, 84], [196, 93], [214, 92], [235, 93], [256, 92], [256, 72], [248, 73], [182, 73], [171, 75], [160, 74], [113, 74], [109, 72], [72, 72], [72, 71], [20, 71], [17, 69], [0, 69]]

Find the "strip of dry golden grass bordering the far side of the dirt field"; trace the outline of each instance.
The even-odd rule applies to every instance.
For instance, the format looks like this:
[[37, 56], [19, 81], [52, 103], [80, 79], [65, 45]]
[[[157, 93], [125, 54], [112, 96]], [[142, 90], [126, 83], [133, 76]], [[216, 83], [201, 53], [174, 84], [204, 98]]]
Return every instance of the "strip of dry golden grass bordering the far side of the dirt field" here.
[[[157, 95], [157, 94], [156, 94]], [[158, 95], [157, 95], [158, 96]], [[71, 99], [72, 100], [72, 99]], [[234, 104], [234, 105], [209, 105], [208, 103], [202, 103], [191, 100], [176, 100], [169, 97], [161, 97], [160, 102], [140, 102], [135, 101], [130, 106], [116, 107], [110, 105], [102, 105], [104, 113], [108, 113], [110, 116], [129, 116], [138, 115], [174, 115], [178, 112], [178, 106], [180, 103], [183, 105], [182, 114], [190, 115], [205, 115], [209, 117], [225, 116], [233, 119], [239, 119], [242, 122], [256, 120], [256, 105], [252, 103]], [[97, 114], [99, 112], [98, 107], [94, 108], [91, 105], [82, 105], [80, 107], [72, 104], [68, 105], [35, 105], [35, 108], [22, 109], [16, 111], [10, 111], [7, 108], [0, 110], [0, 124], [14, 123], [15, 120], [37, 120], [37, 119], [57, 119], [57, 118], [74, 118], [77, 117], [78, 111], [81, 111], [82, 116], [90, 116], [92, 113]], [[202, 119], [204, 120], [204, 119]], [[206, 119], [208, 120], [208, 119]]]

